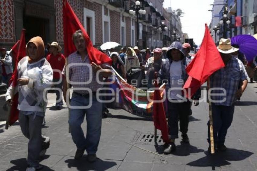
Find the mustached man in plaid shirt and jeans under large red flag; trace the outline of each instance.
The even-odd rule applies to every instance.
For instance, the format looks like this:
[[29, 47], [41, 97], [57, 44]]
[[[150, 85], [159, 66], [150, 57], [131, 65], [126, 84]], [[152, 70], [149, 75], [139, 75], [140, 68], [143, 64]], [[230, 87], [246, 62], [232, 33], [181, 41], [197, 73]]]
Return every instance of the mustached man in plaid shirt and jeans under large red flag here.
[[[81, 30], [73, 34], [73, 43], [77, 51], [68, 56], [68, 65], [66, 66], [68, 67], [68, 73], [66, 73], [66, 67], [64, 68], [63, 96], [64, 101], [67, 102], [69, 99], [66, 99], [68, 88], [66, 74], [68, 74], [69, 83], [74, 89], [70, 101], [69, 124], [72, 140], [77, 147], [75, 159], [79, 159], [86, 150], [87, 160], [95, 162], [102, 125], [102, 103], [96, 97], [96, 92], [103, 87], [100, 82], [97, 82], [96, 73], [101, 70], [98, 77], [99, 81], [102, 81], [103, 77], [111, 76], [112, 72], [107, 69], [108, 64], [99, 66], [94, 62], [90, 63], [86, 41]], [[81, 128], [85, 115], [86, 137]]]

